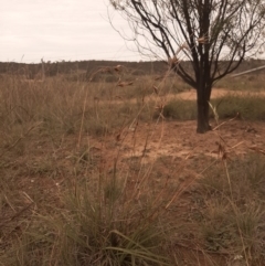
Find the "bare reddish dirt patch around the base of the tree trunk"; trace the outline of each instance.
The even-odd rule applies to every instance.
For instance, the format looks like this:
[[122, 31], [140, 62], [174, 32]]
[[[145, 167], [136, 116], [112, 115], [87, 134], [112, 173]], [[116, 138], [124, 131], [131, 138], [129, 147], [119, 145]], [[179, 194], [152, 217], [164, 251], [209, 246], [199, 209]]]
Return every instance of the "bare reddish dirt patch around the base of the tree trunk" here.
[[[250, 150], [264, 150], [264, 123], [243, 120], [221, 121], [219, 129], [204, 135], [195, 132], [195, 121], [165, 121], [153, 125], [139, 123], [136, 127], [125, 129], [105, 138], [103, 153], [108, 161], [119, 153], [119, 158], [137, 157], [144, 162], [155, 161], [160, 157], [184, 160], [208, 156], [218, 158], [219, 143], [226, 152], [245, 155]], [[212, 123], [214, 126], [214, 121]], [[216, 126], [216, 125], [215, 125]], [[117, 140], [118, 136], [118, 140]], [[98, 140], [93, 139], [94, 143]], [[96, 146], [98, 147], [99, 143]]]

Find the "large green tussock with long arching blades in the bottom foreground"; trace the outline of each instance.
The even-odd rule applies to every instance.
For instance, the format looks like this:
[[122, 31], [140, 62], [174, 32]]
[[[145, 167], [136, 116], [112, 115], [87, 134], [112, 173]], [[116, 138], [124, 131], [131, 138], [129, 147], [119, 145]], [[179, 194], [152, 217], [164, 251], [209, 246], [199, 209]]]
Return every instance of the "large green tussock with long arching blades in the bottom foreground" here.
[[[10, 265], [170, 265], [159, 210], [129, 192], [115, 171], [65, 191], [56, 215], [35, 215]], [[14, 249], [15, 251], [15, 249]]]

